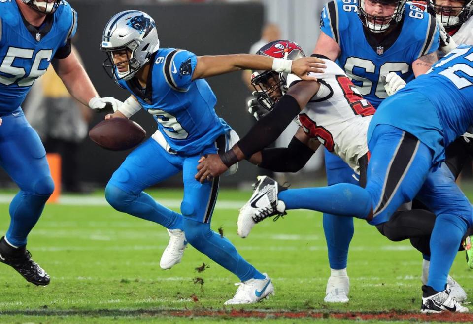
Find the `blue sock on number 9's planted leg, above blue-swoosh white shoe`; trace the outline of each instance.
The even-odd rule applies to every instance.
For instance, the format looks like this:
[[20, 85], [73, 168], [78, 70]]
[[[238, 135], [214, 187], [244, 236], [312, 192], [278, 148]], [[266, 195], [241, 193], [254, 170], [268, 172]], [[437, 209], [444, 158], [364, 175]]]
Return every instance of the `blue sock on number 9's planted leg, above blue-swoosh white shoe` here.
[[204, 255], [234, 273], [240, 281], [264, 279], [265, 276], [245, 261], [235, 246], [210, 229], [210, 224], [184, 218], [186, 240]]

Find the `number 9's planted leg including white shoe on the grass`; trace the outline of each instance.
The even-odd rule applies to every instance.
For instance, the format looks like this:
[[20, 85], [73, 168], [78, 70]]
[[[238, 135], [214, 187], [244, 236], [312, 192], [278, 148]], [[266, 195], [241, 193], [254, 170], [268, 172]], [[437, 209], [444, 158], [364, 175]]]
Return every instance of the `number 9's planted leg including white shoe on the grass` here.
[[243, 259], [226, 237], [210, 229], [219, 178], [199, 183], [194, 178], [199, 159], [200, 156], [187, 158], [183, 165], [184, 200], [181, 213], [184, 216], [186, 238], [193, 247], [234, 273], [241, 281], [235, 297], [226, 304], [257, 302], [274, 292], [271, 280]]

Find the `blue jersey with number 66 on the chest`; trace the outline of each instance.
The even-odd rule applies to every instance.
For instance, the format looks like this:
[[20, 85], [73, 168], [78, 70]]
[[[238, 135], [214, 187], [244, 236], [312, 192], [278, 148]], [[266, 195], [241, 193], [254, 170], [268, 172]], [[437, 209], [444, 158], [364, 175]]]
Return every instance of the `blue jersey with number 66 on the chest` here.
[[357, 11], [357, 0], [333, 0], [322, 10], [320, 25], [341, 48], [338, 65], [376, 108], [388, 97], [381, 75], [397, 72], [406, 82], [414, 79], [412, 63], [439, 48], [439, 30], [435, 18], [407, 3], [397, 39], [387, 49], [374, 49]]

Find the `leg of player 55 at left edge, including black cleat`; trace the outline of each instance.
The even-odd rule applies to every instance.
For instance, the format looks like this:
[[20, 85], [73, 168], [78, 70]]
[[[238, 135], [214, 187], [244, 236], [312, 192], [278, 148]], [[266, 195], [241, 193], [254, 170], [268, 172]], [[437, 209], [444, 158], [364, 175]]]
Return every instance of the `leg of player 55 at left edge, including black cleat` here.
[[26, 250], [28, 234], [54, 191], [46, 151], [21, 109], [2, 119], [0, 165], [20, 187], [20, 192], [10, 203], [10, 226], [0, 240], [0, 261], [12, 266], [27, 281], [47, 285], [48, 274]]

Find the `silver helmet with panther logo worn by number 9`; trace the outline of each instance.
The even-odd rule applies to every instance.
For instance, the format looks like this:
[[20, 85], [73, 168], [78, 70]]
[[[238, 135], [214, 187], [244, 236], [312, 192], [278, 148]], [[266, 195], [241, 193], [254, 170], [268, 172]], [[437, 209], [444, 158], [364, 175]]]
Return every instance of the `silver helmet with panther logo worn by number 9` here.
[[[156, 23], [148, 14], [138, 10], [117, 13], [103, 30], [101, 51], [107, 54], [103, 62], [105, 71], [115, 80], [130, 80], [153, 53], [159, 50]], [[114, 52], [127, 52], [127, 60], [114, 63]], [[128, 62], [127, 71], [120, 72], [117, 65]]]

